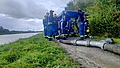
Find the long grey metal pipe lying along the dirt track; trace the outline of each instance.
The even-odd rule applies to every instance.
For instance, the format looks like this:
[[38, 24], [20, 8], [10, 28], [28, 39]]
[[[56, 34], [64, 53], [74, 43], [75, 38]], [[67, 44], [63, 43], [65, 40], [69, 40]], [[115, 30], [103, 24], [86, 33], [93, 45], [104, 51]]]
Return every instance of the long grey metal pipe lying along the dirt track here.
[[103, 50], [120, 54], [120, 46], [114, 44], [107, 44], [106, 42], [98, 42], [92, 40], [59, 40], [59, 41], [71, 45], [99, 47]]

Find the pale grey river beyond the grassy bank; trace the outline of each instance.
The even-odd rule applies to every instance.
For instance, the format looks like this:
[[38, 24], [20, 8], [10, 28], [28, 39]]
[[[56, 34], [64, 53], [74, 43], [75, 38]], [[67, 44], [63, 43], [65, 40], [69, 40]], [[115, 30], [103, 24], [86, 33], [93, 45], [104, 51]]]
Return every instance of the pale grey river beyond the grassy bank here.
[[21, 33], [21, 34], [7, 34], [7, 35], [0, 35], [0, 45], [8, 44], [10, 42], [14, 42], [19, 40], [20, 38], [29, 38], [33, 35], [38, 33]]

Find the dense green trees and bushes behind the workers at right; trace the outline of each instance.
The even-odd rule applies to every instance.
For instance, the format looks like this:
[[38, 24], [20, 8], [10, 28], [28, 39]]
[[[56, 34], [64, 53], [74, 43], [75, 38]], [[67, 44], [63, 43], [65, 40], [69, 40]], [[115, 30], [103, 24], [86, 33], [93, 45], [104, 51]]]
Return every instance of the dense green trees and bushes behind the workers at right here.
[[71, 0], [66, 10], [81, 10], [90, 14], [90, 34], [120, 38], [120, 0]]

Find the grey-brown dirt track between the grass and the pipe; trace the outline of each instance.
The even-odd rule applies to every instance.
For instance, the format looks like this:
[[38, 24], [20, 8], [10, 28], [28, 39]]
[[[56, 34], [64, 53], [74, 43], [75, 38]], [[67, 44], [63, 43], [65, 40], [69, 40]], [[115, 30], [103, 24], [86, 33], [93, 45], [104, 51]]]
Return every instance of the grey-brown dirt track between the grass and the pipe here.
[[74, 46], [63, 43], [59, 43], [59, 45], [67, 51], [71, 58], [78, 61], [85, 68], [120, 68], [120, 55], [95, 47]]

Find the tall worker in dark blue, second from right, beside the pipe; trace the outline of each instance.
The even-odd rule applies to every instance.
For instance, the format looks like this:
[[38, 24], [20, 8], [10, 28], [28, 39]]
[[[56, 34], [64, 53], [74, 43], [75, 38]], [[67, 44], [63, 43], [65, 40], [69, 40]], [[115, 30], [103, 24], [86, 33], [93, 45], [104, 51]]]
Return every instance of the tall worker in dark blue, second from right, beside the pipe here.
[[78, 23], [79, 23], [79, 33], [80, 33], [80, 40], [84, 39], [84, 12], [82, 10], [78, 10]]

